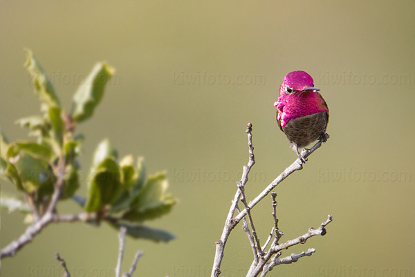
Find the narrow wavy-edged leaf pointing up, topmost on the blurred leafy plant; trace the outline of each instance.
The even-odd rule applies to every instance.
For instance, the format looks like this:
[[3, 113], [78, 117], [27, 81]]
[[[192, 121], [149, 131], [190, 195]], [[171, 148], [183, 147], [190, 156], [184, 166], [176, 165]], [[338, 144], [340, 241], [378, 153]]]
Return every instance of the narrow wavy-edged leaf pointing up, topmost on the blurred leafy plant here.
[[59, 107], [59, 100], [57, 99], [55, 89], [53, 89], [52, 82], [50, 82], [44, 69], [36, 60], [33, 52], [29, 49], [25, 49], [25, 51], [27, 55], [25, 66], [33, 78], [37, 94], [39, 94], [39, 97], [48, 107]]

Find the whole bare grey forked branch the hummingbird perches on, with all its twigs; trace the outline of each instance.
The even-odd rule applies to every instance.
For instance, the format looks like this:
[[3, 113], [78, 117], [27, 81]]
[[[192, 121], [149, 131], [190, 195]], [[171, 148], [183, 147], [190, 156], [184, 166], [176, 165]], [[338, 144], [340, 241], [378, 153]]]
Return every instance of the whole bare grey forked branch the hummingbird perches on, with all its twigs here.
[[[273, 197], [273, 218], [274, 218], [274, 226], [268, 236], [265, 244], [261, 247], [259, 244], [259, 238], [257, 237], [257, 231], [255, 229], [254, 222], [252, 220], [252, 215], [250, 211], [254, 208], [264, 197], [266, 197], [278, 184], [280, 184], [286, 177], [290, 176], [293, 172], [297, 170], [302, 170], [303, 168], [303, 161], [302, 159], [296, 159], [291, 166], [288, 166], [277, 178], [274, 179], [255, 199], [251, 202], [248, 202], [245, 196], [245, 188], [248, 182], [248, 175], [249, 172], [255, 164], [255, 156], [254, 156], [254, 147], [252, 145], [252, 124], [248, 123], [246, 128], [246, 133], [248, 134], [248, 149], [249, 149], [249, 159], [248, 164], [243, 166], [243, 172], [241, 181], [237, 182], [237, 192], [234, 195], [234, 199], [232, 200], [232, 204], [230, 205], [230, 210], [228, 212], [228, 216], [225, 220], [225, 226], [223, 226], [223, 231], [221, 238], [216, 241], [216, 252], [214, 256], [214, 262], [212, 267], [212, 277], [217, 277], [221, 274], [221, 263], [223, 260], [223, 252], [225, 250], [225, 244], [228, 241], [229, 235], [234, 229], [234, 227], [243, 220], [243, 231], [246, 232], [248, 236], [248, 240], [252, 247], [252, 252], [254, 253], [254, 260], [252, 261], [252, 265], [250, 270], [248, 271], [247, 276], [254, 277], [254, 276], [266, 276], [266, 274], [273, 269], [276, 265], [281, 264], [288, 264], [292, 262], [296, 262], [299, 258], [304, 256], [311, 256], [312, 253], [315, 252], [315, 249], [308, 249], [307, 251], [303, 251], [302, 253], [296, 254], [292, 253], [290, 256], [286, 256], [284, 258], [279, 258], [282, 255], [282, 251], [292, 247], [295, 244], [305, 243], [308, 238], [311, 238], [315, 235], [324, 235], [326, 233], [325, 226], [329, 224], [333, 217], [329, 215], [328, 219], [320, 224], [320, 227], [317, 229], [310, 228], [308, 232], [304, 235], [295, 238], [294, 240], [288, 240], [283, 244], [279, 244], [279, 240], [281, 239], [284, 233], [279, 230], [278, 227], [278, 219], [276, 215], [276, 206], [277, 202], [275, 197], [277, 196], [276, 193], [272, 193]], [[317, 141], [313, 148], [309, 150], [302, 150], [301, 156], [305, 160], [306, 157], [310, 156], [315, 150], [320, 148], [324, 141]], [[245, 207], [242, 211], [239, 210], [238, 202], [241, 200], [243, 206]], [[237, 210], [237, 215], [234, 216], [235, 210]], [[246, 220], [248, 217], [248, 220]], [[249, 224], [248, 224], [249, 223]], [[271, 242], [272, 241], [272, 242]], [[270, 244], [271, 242], [271, 244]], [[268, 251], [266, 248], [270, 244]]]

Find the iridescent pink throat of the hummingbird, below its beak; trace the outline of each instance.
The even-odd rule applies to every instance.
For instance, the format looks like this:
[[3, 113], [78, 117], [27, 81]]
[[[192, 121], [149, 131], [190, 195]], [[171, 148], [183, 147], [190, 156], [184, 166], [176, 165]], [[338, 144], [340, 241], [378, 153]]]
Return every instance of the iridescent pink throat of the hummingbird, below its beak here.
[[291, 119], [329, 111], [317, 91], [282, 92], [274, 106], [278, 109], [277, 120], [281, 127], [285, 127]]

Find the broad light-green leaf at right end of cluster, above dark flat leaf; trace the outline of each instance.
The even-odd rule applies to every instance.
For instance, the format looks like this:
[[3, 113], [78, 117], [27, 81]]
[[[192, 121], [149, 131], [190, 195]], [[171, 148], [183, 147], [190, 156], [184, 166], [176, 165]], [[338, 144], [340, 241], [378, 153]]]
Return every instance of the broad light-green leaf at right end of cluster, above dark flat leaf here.
[[169, 213], [176, 199], [166, 193], [169, 184], [164, 173], [149, 177], [145, 186], [131, 202], [131, 210], [122, 218], [133, 222], [152, 220]]

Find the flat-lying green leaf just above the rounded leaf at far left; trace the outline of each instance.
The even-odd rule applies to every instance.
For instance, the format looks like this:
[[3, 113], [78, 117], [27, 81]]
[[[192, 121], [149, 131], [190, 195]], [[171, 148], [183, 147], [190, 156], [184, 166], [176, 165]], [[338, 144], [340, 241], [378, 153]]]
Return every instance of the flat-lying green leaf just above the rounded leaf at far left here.
[[20, 152], [26, 152], [30, 156], [50, 162], [53, 160], [54, 154], [50, 145], [46, 143], [36, 143], [34, 141], [18, 141], [9, 145], [7, 155], [10, 158], [16, 157]]

